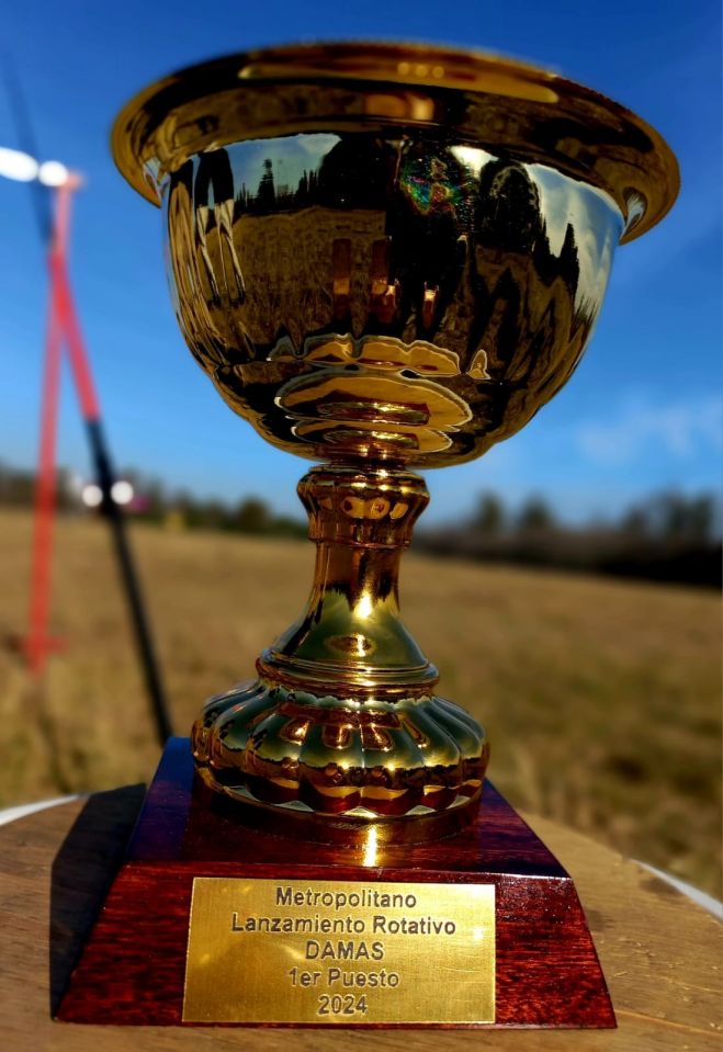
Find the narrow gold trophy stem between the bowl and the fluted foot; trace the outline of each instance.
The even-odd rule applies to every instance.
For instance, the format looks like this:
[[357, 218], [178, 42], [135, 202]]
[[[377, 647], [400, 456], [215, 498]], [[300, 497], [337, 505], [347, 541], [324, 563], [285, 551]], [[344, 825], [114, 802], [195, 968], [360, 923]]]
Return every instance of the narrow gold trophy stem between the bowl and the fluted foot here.
[[409, 472], [317, 467], [300, 483], [316, 542], [307, 608], [258, 664], [293, 688], [360, 700], [421, 694], [439, 679], [399, 619], [398, 574], [429, 502]]

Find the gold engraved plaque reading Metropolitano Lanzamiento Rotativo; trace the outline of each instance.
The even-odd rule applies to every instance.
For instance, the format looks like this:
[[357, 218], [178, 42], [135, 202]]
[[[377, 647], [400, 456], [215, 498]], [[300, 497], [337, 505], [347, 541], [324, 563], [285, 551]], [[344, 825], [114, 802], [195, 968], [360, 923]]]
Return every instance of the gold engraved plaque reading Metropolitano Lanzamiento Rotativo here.
[[495, 887], [197, 876], [183, 1021], [494, 1022]]

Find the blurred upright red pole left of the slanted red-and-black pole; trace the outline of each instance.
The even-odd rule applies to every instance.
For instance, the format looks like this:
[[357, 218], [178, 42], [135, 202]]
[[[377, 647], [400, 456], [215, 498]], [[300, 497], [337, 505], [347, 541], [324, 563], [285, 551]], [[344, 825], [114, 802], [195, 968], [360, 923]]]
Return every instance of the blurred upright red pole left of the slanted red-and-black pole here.
[[57, 261], [67, 244], [70, 186], [55, 193], [53, 241], [48, 253], [48, 318], [45, 336], [43, 400], [41, 408], [41, 446], [35, 489], [33, 548], [30, 592], [30, 626], [26, 641], [27, 659], [33, 675], [39, 676], [54, 641], [48, 634], [50, 612], [50, 570], [53, 562], [53, 519], [55, 513], [55, 442], [60, 394], [60, 350], [63, 341], [63, 305], [56, 281]]

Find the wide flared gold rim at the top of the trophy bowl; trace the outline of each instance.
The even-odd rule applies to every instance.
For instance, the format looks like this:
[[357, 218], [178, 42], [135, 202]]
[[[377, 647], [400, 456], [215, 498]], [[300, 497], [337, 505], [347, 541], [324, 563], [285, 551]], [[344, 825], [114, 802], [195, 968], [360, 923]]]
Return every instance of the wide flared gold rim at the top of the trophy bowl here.
[[528, 63], [421, 43], [287, 45], [187, 67], [124, 106], [112, 150], [131, 185], [159, 205], [165, 176], [203, 150], [410, 127], [591, 183], [623, 215], [621, 244], [655, 226], [680, 186], [665, 139], [611, 99]]

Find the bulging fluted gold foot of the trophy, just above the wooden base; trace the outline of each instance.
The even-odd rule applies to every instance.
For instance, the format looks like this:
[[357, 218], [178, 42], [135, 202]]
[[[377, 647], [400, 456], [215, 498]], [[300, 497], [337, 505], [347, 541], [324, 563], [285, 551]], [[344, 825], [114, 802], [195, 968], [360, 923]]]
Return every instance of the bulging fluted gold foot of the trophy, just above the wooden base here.
[[211, 699], [192, 747], [231, 795], [357, 819], [470, 806], [489, 753], [477, 723], [442, 698], [369, 706], [263, 680]]

